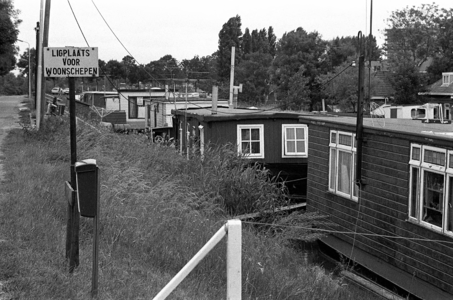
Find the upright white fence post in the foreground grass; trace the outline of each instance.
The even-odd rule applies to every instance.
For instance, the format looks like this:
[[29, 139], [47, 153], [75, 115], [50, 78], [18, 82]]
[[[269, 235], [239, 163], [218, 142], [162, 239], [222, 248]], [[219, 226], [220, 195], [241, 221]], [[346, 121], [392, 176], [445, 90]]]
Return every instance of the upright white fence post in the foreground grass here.
[[240, 220], [227, 223], [227, 300], [242, 298], [242, 225]]

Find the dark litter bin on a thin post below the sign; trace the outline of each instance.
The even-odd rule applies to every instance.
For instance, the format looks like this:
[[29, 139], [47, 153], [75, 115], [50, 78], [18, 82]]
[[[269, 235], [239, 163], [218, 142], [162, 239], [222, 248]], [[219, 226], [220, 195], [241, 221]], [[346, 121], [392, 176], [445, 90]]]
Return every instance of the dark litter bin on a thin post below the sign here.
[[86, 159], [75, 164], [77, 183], [77, 204], [82, 217], [97, 215], [99, 189], [98, 167], [95, 159]]

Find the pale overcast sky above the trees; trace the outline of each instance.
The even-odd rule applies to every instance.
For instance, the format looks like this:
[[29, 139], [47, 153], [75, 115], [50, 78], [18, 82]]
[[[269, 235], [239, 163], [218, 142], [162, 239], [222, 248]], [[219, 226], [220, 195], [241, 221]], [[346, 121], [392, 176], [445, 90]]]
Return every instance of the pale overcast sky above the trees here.
[[[13, 0], [21, 11], [19, 39], [35, 47], [34, 28], [39, 21], [41, 0]], [[323, 39], [356, 36], [370, 30], [371, 0], [53, 0], [51, 2], [49, 47], [87, 47], [71, 12], [99, 58], [108, 61], [128, 55], [110, 31], [94, 4], [127, 50], [141, 64], [171, 54], [177, 60], [211, 55], [217, 50], [218, 34], [229, 18], [239, 15], [242, 31], [272, 26], [277, 38], [298, 27], [318, 31]], [[433, 1], [374, 0], [373, 34], [383, 42], [385, 19], [392, 11]], [[94, 4], [93, 4], [94, 3]], [[452, 8], [452, 0], [435, 1]], [[20, 53], [27, 44], [18, 42]]]

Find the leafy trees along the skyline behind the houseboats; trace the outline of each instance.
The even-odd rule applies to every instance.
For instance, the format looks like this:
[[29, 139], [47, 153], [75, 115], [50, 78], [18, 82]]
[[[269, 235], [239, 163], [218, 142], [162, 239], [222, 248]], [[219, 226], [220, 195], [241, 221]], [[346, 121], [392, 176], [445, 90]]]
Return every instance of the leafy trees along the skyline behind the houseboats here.
[[[3, 22], [0, 25], [2, 45], [4, 36], [9, 38], [7, 44], [12, 45], [11, 41], [17, 40], [20, 20], [9, 1], [1, 3], [0, 9], [8, 12], [7, 19], [11, 22], [9, 29], [3, 28]], [[182, 89], [185, 80], [190, 79], [191, 88], [210, 92], [213, 85], [218, 85], [220, 97], [227, 98], [231, 47], [235, 47], [234, 85], [243, 85], [240, 102], [251, 105], [272, 103], [283, 109], [319, 110], [321, 99], [326, 99], [329, 104], [339, 105], [343, 110], [355, 111], [358, 71], [352, 66], [358, 59], [359, 48], [365, 47], [366, 61], [387, 62], [387, 80], [395, 91], [394, 101], [414, 103], [422, 101], [418, 93], [440, 79], [442, 72], [453, 71], [452, 15], [452, 9], [439, 8], [435, 3], [396, 10], [387, 19], [387, 39], [382, 48], [374, 36], [365, 35], [364, 45], [360, 45], [356, 35], [324, 40], [317, 31], [307, 32], [302, 27], [284, 33], [279, 39], [272, 26], [242, 31], [241, 17], [236, 15], [223, 24], [218, 35], [218, 48], [211, 55], [178, 61], [168, 54], [147, 64], [139, 64], [134, 57], [127, 55], [121, 61], [99, 60], [99, 66], [101, 77], [108, 79], [110, 87], [118, 87], [123, 82], [130, 87], [168, 84]], [[15, 64], [17, 49], [14, 46], [8, 49], [6, 53], [9, 54], [0, 52], [2, 76]], [[4, 51], [3, 48], [0, 51]], [[33, 62], [34, 49], [30, 54]], [[420, 67], [427, 61], [432, 63], [426, 72], [421, 73]], [[21, 69], [19, 77], [27, 77], [27, 52], [20, 56], [17, 66]], [[31, 69], [34, 69], [33, 64]], [[12, 79], [8, 78], [9, 82]], [[99, 79], [87, 79], [86, 84], [90, 80], [97, 83]], [[23, 82], [18, 80], [17, 84], [23, 85]], [[368, 98], [381, 84], [382, 79], [371, 78]], [[14, 89], [10, 90], [13, 92]]]

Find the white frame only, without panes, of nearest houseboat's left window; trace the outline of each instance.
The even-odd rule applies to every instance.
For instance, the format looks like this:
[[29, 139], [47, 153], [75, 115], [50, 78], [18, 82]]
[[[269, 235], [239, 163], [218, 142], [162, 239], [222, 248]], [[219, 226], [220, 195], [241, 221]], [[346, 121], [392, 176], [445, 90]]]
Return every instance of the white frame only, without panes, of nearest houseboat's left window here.
[[[335, 140], [332, 141], [332, 134], [335, 134]], [[340, 144], [339, 138], [340, 135], [347, 135], [351, 137], [351, 145], [346, 146]], [[351, 199], [352, 201], [358, 202], [358, 190], [355, 184], [355, 167], [356, 167], [356, 135], [352, 132], [346, 131], [339, 131], [339, 130], [331, 130], [329, 134], [329, 191], [339, 195], [341, 197]], [[351, 174], [350, 174], [350, 194], [344, 193], [338, 189], [340, 176], [338, 176], [338, 157], [340, 152], [350, 153], [351, 154]], [[333, 157], [333, 154], [335, 157]], [[334, 160], [335, 166], [334, 170], [332, 170], [332, 161]], [[335, 176], [332, 176], [332, 172], [334, 172]], [[332, 179], [335, 182], [332, 182]]]

